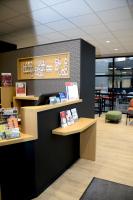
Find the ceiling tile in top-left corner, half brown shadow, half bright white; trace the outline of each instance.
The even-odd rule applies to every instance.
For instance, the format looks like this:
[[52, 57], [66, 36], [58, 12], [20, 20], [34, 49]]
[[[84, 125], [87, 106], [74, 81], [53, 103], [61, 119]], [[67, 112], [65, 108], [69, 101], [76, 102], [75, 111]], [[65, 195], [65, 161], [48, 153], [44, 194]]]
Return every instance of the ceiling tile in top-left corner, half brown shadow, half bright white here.
[[31, 12], [47, 6], [41, 0], [4, 0], [0, 3], [19, 13]]

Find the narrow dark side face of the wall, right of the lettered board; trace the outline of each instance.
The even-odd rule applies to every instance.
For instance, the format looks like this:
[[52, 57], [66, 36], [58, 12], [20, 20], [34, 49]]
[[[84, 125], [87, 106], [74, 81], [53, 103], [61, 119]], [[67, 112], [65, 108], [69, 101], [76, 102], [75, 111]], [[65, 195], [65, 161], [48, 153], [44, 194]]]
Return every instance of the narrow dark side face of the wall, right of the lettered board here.
[[95, 47], [81, 40], [80, 98], [83, 99], [81, 115], [94, 117]]

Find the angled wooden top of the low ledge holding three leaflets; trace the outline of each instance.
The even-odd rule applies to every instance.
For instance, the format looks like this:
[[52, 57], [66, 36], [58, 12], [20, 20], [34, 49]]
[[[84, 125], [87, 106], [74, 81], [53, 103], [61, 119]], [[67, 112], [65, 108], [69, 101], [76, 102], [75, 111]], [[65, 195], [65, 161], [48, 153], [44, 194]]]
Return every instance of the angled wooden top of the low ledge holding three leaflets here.
[[67, 126], [65, 128], [56, 128], [52, 130], [52, 134], [55, 135], [62, 135], [62, 136], [67, 136], [75, 133], [82, 133], [84, 130], [92, 126], [93, 124], [96, 123], [96, 119], [91, 119], [91, 118], [79, 118], [77, 122], [74, 124]]

